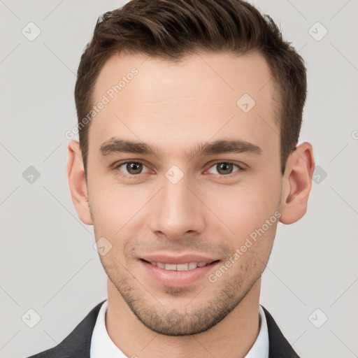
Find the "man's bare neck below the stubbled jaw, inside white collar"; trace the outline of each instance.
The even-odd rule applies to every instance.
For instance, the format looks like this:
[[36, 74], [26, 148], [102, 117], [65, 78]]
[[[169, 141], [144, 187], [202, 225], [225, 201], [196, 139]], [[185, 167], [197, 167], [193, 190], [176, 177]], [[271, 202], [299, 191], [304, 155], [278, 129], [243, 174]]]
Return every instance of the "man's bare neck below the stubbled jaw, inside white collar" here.
[[138, 320], [108, 280], [106, 329], [110, 339], [127, 357], [243, 358], [259, 334], [261, 278], [222, 321], [192, 336], [164, 336]]

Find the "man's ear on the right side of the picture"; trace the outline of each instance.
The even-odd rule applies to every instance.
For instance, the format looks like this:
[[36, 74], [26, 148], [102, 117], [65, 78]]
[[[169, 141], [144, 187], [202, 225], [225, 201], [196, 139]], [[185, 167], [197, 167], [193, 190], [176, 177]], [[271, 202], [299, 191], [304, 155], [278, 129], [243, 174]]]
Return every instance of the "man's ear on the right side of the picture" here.
[[314, 170], [312, 145], [302, 143], [289, 155], [282, 180], [280, 222], [283, 224], [293, 224], [305, 215]]

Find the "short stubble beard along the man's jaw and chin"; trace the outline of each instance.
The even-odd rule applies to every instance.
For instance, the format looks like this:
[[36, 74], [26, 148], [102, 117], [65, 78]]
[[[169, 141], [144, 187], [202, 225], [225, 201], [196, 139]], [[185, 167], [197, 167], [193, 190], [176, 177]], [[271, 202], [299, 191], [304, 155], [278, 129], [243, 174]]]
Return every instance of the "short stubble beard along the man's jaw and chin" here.
[[[263, 268], [248, 281], [248, 276], [245, 276], [247, 269], [239, 268], [231, 278], [227, 274], [226, 280], [222, 278], [222, 282], [210, 283], [201, 292], [199, 289], [194, 299], [188, 297], [187, 306], [175, 307], [176, 299], [185, 294], [185, 288], [166, 287], [166, 294], [173, 298], [173, 306], [168, 308], [155, 298], [150, 289], [143, 287], [128, 273], [122, 273], [122, 277], [119, 277], [117, 273], [123, 271], [120, 267], [106, 266], [104, 262], [102, 264], [108, 278], [138, 320], [148, 329], [165, 336], [189, 336], [208, 331], [241, 303], [264, 271]], [[114, 268], [114, 272], [111, 268]], [[198, 303], [203, 297], [210, 299]]]

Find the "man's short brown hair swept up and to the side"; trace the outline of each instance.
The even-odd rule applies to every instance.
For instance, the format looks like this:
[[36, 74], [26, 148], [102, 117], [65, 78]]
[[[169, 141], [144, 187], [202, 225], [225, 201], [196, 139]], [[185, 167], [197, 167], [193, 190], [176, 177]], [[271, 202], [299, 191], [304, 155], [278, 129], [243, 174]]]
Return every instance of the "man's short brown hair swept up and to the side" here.
[[[101, 15], [78, 67], [78, 124], [90, 113], [96, 78], [111, 55], [125, 51], [176, 62], [199, 50], [264, 55], [278, 95], [283, 176], [301, 131], [306, 68], [272, 18], [243, 0], [131, 0]], [[86, 178], [89, 128], [90, 122], [78, 128]]]

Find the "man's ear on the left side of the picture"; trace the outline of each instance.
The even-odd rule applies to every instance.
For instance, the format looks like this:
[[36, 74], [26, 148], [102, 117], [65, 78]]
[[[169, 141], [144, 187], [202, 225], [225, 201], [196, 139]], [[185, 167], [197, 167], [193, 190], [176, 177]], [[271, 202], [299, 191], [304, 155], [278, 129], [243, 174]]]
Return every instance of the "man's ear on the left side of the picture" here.
[[78, 141], [70, 141], [67, 148], [69, 150], [67, 177], [69, 178], [73, 205], [76, 208], [80, 220], [87, 225], [92, 225], [93, 222], [88, 202], [87, 183], [80, 143], [78, 143]]

